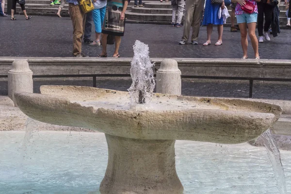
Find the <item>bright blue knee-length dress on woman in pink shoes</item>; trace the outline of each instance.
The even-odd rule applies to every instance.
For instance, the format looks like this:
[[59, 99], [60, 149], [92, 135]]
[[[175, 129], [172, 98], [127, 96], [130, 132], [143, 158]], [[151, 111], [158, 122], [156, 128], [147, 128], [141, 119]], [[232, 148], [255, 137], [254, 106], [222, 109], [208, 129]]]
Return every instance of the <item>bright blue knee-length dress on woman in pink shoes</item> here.
[[223, 25], [223, 17], [220, 19], [218, 18], [218, 11], [220, 7], [221, 4], [211, 4], [211, 0], [206, 0], [203, 26], [207, 26], [208, 24]]

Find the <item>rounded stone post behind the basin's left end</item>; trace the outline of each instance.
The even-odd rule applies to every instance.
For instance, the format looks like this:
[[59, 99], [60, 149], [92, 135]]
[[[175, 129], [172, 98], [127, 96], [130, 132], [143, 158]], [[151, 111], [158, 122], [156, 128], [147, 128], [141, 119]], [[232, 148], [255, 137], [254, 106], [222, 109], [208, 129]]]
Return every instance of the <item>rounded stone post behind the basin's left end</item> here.
[[16, 92], [33, 93], [32, 71], [26, 60], [15, 60], [12, 69], [8, 71], [8, 96], [16, 105], [14, 94]]

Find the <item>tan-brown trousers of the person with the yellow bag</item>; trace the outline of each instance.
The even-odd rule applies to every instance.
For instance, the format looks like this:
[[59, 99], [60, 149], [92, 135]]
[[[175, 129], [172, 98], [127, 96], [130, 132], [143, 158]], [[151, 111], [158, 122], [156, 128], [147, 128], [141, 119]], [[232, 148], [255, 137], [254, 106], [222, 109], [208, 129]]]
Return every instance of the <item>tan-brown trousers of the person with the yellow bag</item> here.
[[73, 23], [73, 55], [82, 52], [82, 36], [85, 29], [86, 14], [84, 14], [79, 5], [69, 3], [70, 17]]

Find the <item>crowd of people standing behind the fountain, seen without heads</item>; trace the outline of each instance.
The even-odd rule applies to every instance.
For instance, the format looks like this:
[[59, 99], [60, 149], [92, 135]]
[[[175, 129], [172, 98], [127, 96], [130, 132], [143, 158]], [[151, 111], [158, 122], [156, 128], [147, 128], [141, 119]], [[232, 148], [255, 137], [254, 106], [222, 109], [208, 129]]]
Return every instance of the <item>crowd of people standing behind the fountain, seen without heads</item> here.
[[[11, 20], [16, 20], [14, 13], [16, 2], [21, 0], [12, 0]], [[0, 0], [0, 15], [8, 16], [4, 13], [5, 0]], [[82, 38], [84, 43], [90, 46], [101, 46], [102, 52], [98, 57], [107, 57], [107, 44], [114, 44], [115, 50], [113, 57], [118, 58], [118, 52], [121, 43], [121, 36], [124, 35], [125, 29], [125, 12], [128, 6], [128, 0], [92, 0], [94, 9], [91, 12], [84, 13], [79, 5], [79, 0], [54, 0], [51, 5], [59, 5], [57, 16], [61, 16], [61, 10], [65, 2], [69, 4], [68, 13], [73, 24], [73, 56], [87, 57], [82, 53]], [[91, 1], [90, 1], [91, 2]], [[161, 0], [162, 2], [162, 0]], [[291, 12], [289, 9], [289, 0], [285, 1], [286, 15], [288, 16], [287, 25], [290, 26]], [[26, 14], [24, 4], [19, 3], [26, 19], [32, 16]], [[135, 7], [142, 7], [142, 0], [134, 0]], [[182, 27], [182, 17], [184, 13], [184, 0], [171, 0], [172, 4], [172, 27]], [[226, 6], [231, 4], [231, 13], [228, 14]], [[259, 44], [264, 39], [270, 41], [268, 35], [270, 27], [275, 37], [280, 32], [279, 28], [279, 9], [278, 0], [186, 0], [186, 12], [184, 15], [184, 30], [180, 45], [185, 45], [189, 41], [190, 30], [192, 26], [191, 42], [198, 45], [198, 35], [200, 26], [207, 28], [207, 41], [203, 46], [211, 44], [211, 34], [213, 25], [217, 25], [218, 39], [215, 46], [223, 44], [223, 24], [226, 18], [230, 16], [231, 32], [241, 32], [241, 45], [243, 56], [247, 59], [247, 47], [249, 35], [251, 44], [254, 49], [255, 58], [259, 59]], [[177, 16], [176, 16], [177, 15]], [[234, 24], [234, 18], [237, 18], [238, 27]], [[265, 23], [263, 25], [263, 20]], [[90, 38], [92, 21], [95, 24], [95, 40]], [[256, 26], [258, 25], [259, 41], [256, 36]], [[110, 42], [110, 43], [109, 43]]]

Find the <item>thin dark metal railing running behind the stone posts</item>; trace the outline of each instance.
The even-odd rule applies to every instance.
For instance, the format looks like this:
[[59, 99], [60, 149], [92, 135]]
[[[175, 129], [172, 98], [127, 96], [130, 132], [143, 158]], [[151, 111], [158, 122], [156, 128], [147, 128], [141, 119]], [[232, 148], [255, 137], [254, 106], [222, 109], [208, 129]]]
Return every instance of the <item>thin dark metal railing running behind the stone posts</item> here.
[[[154, 75], [156, 76], [156, 75]], [[7, 75], [0, 75], [0, 78], [7, 78]], [[72, 75], [33, 75], [32, 78], [93, 78], [93, 87], [96, 87], [97, 77], [130, 77], [130, 74], [72, 74]], [[249, 98], [253, 97], [253, 82], [254, 81], [289, 81], [289, 78], [247, 78], [247, 77], [219, 77], [219, 76], [186, 76], [181, 78], [188, 79], [209, 79], [209, 80], [248, 80], [249, 81]]]

